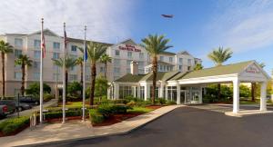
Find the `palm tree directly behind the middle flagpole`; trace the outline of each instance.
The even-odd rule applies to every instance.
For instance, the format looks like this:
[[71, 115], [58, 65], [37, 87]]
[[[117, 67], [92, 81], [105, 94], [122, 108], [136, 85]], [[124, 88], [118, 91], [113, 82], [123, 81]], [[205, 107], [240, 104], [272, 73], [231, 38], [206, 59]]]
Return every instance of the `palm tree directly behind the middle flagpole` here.
[[53, 64], [63, 67], [64, 61], [66, 62], [66, 93], [67, 93], [67, 83], [68, 83], [68, 69], [72, 68], [76, 65], [76, 59], [66, 56], [66, 59], [64, 60], [64, 58], [59, 58], [59, 59], [52, 59], [53, 60]]

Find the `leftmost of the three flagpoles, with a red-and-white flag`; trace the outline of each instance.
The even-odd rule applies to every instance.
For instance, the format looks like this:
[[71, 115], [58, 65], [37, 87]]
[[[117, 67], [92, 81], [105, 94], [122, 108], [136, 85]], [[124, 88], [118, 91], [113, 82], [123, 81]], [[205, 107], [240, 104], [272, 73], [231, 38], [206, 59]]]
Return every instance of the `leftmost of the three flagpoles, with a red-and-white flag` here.
[[43, 35], [44, 35], [44, 18], [42, 20], [42, 27], [41, 27], [41, 56], [40, 56], [40, 123], [43, 123], [43, 97], [44, 97], [44, 88], [43, 88], [43, 54], [44, 54], [44, 44], [43, 42]]

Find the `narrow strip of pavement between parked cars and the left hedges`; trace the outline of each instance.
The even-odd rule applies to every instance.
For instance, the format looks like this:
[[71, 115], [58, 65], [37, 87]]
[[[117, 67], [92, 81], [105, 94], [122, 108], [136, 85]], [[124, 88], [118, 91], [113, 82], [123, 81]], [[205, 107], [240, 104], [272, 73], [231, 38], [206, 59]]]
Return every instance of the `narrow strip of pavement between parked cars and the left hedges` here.
[[[55, 99], [52, 99], [46, 103], [44, 103], [44, 108], [46, 107], [49, 107], [49, 106], [52, 106], [56, 103], [56, 100]], [[35, 107], [33, 107], [32, 109], [29, 109], [29, 110], [25, 110], [25, 111], [22, 111], [20, 112], [20, 116], [28, 116], [28, 115], [31, 115], [31, 113], [35, 112], [35, 111], [38, 111], [40, 109], [40, 105], [36, 105]], [[6, 116], [6, 118], [12, 118], [12, 117], [16, 117], [17, 116], [17, 113], [12, 113], [12, 114], [9, 114]], [[4, 121], [5, 119], [3, 120], [0, 120], [0, 122]]]

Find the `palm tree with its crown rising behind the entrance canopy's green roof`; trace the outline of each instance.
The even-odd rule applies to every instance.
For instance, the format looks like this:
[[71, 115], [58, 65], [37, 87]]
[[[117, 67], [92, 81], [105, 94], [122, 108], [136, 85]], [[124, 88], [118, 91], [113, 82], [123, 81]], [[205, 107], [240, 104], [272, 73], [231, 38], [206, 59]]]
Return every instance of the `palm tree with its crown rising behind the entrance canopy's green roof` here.
[[[230, 48], [224, 49], [219, 46], [217, 49], [214, 49], [207, 57], [212, 60], [217, 66], [222, 65], [229, 59], [232, 55]], [[221, 96], [221, 84], [217, 83], [217, 98], [220, 99]]]

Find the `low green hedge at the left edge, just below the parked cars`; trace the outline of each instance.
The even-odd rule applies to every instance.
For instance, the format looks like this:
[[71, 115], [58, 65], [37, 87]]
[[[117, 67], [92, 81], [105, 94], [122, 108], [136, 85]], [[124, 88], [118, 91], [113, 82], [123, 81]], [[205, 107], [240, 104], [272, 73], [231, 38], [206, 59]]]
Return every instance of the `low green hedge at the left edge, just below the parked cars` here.
[[0, 122], [0, 131], [4, 134], [16, 132], [18, 129], [29, 124], [29, 117], [22, 116], [19, 118], [7, 119], [4, 122]]

